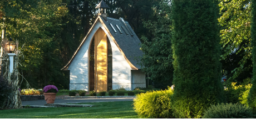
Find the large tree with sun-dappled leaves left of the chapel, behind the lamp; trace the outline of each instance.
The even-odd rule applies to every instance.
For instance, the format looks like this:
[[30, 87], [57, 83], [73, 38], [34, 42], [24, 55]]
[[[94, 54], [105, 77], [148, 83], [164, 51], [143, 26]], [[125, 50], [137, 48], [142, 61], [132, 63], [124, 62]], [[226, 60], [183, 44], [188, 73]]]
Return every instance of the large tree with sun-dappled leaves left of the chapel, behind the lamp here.
[[53, 84], [68, 86], [61, 69], [60, 33], [62, 16], [67, 8], [62, 1], [4, 1], [2, 2], [7, 38], [25, 44], [22, 52], [21, 72], [29, 84], [42, 88]]

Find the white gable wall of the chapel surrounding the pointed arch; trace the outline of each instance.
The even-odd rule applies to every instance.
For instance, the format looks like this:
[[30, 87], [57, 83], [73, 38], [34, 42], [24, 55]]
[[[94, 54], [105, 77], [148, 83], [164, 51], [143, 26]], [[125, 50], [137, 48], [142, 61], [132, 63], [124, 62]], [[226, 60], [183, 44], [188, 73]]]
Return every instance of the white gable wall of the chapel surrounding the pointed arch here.
[[70, 90], [88, 91], [89, 89], [88, 49], [93, 35], [100, 27], [107, 34], [112, 47], [112, 89], [115, 90], [119, 89], [120, 87], [124, 87], [126, 90], [131, 90], [131, 67], [127, 63], [119, 48], [116, 46], [114, 40], [110, 37], [110, 34], [107, 33], [107, 30], [99, 21], [95, 24], [94, 28], [91, 30], [91, 33], [87, 35], [85, 42], [68, 67], [68, 70], [70, 70]]

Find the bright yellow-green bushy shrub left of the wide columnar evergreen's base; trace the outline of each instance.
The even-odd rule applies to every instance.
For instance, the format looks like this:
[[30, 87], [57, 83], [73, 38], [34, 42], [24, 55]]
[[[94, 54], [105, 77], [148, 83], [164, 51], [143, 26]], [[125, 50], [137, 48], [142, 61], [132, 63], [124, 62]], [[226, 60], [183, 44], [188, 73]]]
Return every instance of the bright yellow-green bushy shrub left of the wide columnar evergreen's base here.
[[135, 112], [141, 118], [173, 118], [172, 95], [171, 89], [139, 94], [134, 100]]

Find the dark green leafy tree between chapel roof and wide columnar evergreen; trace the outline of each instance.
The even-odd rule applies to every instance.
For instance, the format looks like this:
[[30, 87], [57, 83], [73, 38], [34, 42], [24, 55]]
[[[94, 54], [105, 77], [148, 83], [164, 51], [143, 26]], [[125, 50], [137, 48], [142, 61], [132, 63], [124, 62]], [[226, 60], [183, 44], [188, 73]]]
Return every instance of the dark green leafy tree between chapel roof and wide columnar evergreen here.
[[171, 53], [171, 20], [170, 2], [160, 2], [160, 7], [154, 7], [156, 22], [149, 20], [144, 26], [151, 33], [151, 37], [142, 36], [141, 58], [142, 71], [149, 74], [150, 80], [167, 89], [173, 80], [173, 55]]

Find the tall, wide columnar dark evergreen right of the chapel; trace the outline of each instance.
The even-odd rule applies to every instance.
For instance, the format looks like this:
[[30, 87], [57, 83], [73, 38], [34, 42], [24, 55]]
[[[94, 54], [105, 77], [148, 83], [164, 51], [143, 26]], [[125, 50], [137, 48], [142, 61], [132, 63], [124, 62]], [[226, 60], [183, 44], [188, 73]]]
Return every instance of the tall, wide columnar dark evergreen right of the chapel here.
[[222, 102], [218, 0], [173, 0], [174, 95], [178, 118], [200, 118]]

